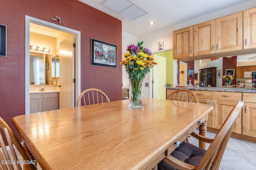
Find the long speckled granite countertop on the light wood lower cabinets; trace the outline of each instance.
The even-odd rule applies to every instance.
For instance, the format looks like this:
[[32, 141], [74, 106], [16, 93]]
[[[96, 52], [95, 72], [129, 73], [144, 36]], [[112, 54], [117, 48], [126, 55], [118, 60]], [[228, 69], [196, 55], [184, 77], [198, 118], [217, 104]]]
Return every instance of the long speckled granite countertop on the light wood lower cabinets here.
[[188, 89], [188, 90], [202, 90], [202, 91], [214, 91], [214, 92], [240, 92], [240, 93], [256, 93], [256, 88], [221, 88], [221, 87], [192, 87], [192, 88], [178, 88], [167, 87], [166, 89]]

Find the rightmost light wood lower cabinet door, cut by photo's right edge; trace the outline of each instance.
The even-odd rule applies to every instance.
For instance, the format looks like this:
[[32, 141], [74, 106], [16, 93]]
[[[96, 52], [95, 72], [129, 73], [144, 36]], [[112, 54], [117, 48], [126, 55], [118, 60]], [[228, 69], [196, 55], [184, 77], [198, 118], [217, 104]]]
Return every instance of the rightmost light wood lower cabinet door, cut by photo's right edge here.
[[256, 103], [244, 102], [242, 134], [256, 137]]

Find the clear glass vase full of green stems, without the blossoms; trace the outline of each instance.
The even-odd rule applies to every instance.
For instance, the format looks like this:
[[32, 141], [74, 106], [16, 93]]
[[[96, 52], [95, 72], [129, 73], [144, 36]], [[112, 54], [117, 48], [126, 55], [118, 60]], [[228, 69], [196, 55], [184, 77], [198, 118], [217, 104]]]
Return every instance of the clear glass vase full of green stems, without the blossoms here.
[[132, 88], [132, 96], [128, 107], [132, 109], [143, 108], [141, 100], [141, 87], [143, 80], [130, 80], [130, 86]]

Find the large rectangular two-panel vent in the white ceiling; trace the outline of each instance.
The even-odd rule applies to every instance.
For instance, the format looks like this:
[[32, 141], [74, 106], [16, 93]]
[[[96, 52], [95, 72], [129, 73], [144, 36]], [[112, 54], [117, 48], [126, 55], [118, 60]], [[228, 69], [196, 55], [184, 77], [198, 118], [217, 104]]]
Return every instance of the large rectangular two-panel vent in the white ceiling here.
[[148, 14], [146, 10], [131, 0], [104, 0], [100, 4], [130, 20]]

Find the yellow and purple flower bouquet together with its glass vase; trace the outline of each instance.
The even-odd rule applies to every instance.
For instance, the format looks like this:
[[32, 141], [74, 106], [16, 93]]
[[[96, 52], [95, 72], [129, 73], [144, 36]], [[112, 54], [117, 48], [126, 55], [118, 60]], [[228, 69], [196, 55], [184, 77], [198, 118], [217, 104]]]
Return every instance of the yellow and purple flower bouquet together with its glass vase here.
[[152, 57], [150, 49], [142, 47], [143, 41], [138, 42], [138, 45], [130, 44], [127, 46], [124, 59], [120, 64], [123, 64], [127, 71], [132, 87], [132, 96], [129, 107], [143, 108], [141, 100], [142, 82], [152, 66], [157, 64]]

